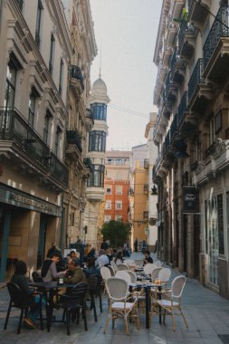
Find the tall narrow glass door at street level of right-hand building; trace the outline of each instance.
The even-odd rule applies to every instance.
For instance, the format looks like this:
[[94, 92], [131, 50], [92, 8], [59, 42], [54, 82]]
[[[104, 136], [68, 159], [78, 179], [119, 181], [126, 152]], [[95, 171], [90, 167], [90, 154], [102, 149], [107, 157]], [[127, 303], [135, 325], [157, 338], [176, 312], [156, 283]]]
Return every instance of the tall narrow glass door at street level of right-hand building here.
[[213, 197], [208, 202], [208, 244], [209, 244], [209, 282], [218, 286], [218, 226], [217, 199]]

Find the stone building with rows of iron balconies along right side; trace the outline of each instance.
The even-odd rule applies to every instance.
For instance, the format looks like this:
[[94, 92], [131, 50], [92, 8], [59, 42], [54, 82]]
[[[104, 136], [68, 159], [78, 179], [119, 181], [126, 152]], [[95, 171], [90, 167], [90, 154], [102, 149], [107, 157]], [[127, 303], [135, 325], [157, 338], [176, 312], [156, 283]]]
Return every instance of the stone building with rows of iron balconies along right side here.
[[228, 3], [163, 1], [154, 62], [159, 255], [229, 297]]

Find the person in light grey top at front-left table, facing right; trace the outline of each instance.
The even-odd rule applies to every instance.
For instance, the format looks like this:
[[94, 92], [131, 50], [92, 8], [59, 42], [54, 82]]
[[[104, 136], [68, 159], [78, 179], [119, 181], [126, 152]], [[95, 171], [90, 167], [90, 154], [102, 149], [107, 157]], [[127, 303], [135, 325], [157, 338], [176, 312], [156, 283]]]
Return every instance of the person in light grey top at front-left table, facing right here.
[[63, 272], [57, 272], [56, 270], [56, 264], [59, 262], [59, 260], [59, 253], [52, 253], [52, 256], [43, 262], [41, 273], [43, 282], [57, 281], [59, 277], [63, 277], [65, 275], [67, 270]]

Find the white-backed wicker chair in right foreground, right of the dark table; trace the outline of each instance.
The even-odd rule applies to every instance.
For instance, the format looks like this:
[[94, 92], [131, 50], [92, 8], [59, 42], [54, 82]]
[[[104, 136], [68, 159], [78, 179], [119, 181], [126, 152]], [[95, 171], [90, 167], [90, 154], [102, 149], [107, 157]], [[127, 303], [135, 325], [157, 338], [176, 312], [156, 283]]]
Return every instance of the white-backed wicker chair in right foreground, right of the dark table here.
[[[181, 310], [181, 296], [186, 284], [186, 277], [185, 276], [177, 276], [171, 285], [171, 291], [168, 291], [169, 296], [167, 299], [152, 300], [153, 306], [153, 313], [157, 310], [156, 308], [159, 307], [159, 310], [163, 313], [163, 322], [166, 322], [166, 315], [169, 315], [172, 318], [173, 322], [173, 330], [176, 330], [175, 324], [175, 315], [181, 315], [185, 321], [185, 325], [187, 328], [186, 318]], [[163, 294], [162, 294], [163, 295]], [[158, 313], [158, 312], [157, 312]]]

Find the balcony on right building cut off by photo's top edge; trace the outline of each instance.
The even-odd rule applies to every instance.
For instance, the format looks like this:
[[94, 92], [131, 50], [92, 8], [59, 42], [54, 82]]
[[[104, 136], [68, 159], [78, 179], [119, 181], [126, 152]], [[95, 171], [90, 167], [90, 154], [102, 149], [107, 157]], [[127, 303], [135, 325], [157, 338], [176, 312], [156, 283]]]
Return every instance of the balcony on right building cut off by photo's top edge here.
[[205, 26], [209, 15], [211, 0], [202, 0], [201, 5], [198, 1], [188, 0], [188, 21], [194, 23], [196, 27], [202, 29]]

